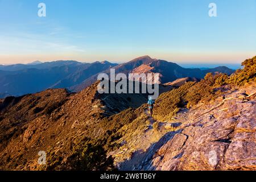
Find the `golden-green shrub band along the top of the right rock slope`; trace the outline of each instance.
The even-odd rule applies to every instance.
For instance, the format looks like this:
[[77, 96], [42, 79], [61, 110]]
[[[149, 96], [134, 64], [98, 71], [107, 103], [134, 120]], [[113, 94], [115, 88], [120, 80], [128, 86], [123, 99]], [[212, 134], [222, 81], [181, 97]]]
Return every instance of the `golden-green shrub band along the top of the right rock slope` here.
[[219, 89], [227, 84], [244, 85], [250, 81], [256, 81], [256, 56], [247, 59], [242, 63], [243, 69], [238, 69], [236, 73], [228, 76], [223, 73], [207, 73], [203, 80], [197, 83], [189, 82], [178, 89], [162, 94], [156, 100], [154, 117], [159, 120], [170, 119], [179, 108], [187, 108], [199, 102], [209, 102], [221, 96]]

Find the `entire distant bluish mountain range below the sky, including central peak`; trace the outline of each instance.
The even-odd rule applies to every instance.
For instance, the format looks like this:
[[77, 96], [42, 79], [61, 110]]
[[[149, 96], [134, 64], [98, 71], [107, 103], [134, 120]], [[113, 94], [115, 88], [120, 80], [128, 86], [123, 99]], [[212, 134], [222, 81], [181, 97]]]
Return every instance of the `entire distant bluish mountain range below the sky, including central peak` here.
[[79, 63], [77, 61], [53, 61], [31, 64], [0, 65], [0, 98], [6, 96], [22, 96], [36, 93], [49, 88], [66, 88], [71, 92], [79, 92], [92, 85], [99, 73], [159, 73], [160, 82], [175, 81], [177, 78], [203, 78], [207, 73], [226, 73], [231, 75], [234, 70], [227, 67], [213, 69], [183, 68], [175, 63], [151, 59], [149, 56], [138, 57], [123, 64], [108, 61]]

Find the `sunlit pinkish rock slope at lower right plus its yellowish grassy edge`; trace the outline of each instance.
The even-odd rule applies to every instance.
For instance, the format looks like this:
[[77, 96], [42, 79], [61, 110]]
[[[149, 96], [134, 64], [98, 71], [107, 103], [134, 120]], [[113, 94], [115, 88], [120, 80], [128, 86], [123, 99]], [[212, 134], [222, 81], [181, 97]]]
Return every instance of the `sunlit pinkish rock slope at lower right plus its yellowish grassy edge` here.
[[[181, 109], [137, 139], [123, 137], [127, 143], [112, 153], [115, 163], [121, 170], [255, 170], [255, 92], [256, 84], [230, 89], [210, 104]], [[223, 97], [229, 99], [215, 107]]]

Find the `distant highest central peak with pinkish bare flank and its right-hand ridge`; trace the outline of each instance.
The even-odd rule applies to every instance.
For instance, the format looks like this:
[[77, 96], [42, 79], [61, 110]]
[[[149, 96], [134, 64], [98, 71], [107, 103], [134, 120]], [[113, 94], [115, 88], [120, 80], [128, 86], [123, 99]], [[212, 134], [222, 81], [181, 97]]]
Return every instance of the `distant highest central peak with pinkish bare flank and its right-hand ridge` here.
[[[171, 63], [164, 60], [152, 59], [149, 56], [138, 57], [134, 60], [131, 60], [127, 63], [119, 64], [115, 67], [115, 73], [159, 73], [160, 83], [165, 84], [167, 82], [175, 81], [177, 78], [183, 77], [196, 77], [203, 78], [207, 73], [226, 73], [228, 75], [232, 74], [234, 71], [227, 67], [217, 67], [213, 69], [206, 69], [202, 71], [201, 69], [189, 69], [183, 68], [175, 63]], [[109, 75], [110, 71], [106, 70], [104, 73]], [[74, 92], [79, 92], [82, 89], [90, 86], [97, 80], [98, 75], [87, 78], [81, 84], [72, 86], [69, 88]]]

